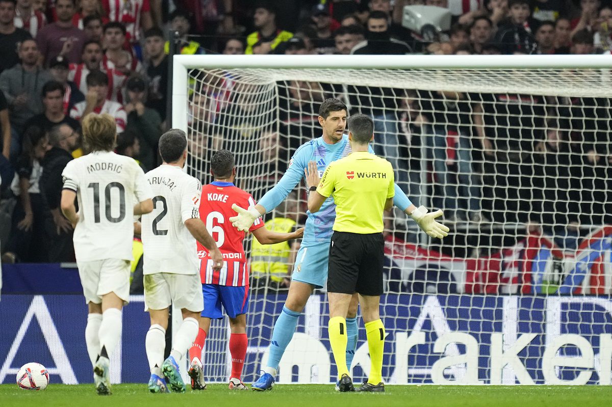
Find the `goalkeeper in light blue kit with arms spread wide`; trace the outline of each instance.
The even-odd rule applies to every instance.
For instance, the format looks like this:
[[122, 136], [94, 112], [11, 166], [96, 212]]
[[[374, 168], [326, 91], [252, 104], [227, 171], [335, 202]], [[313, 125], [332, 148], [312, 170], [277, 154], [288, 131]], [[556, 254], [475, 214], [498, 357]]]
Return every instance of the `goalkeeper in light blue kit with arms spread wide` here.
[[[238, 215], [230, 218], [233, 226], [238, 230], [248, 230], [255, 219], [274, 210], [283, 202], [302, 178], [306, 179], [309, 191], [315, 190], [319, 183], [319, 174], [323, 174], [327, 165], [351, 153], [348, 136], [344, 134], [347, 116], [348, 109], [342, 101], [337, 99], [324, 101], [319, 108], [319, 124], [323, 128], [323, 136], [302, 144], [296, 150], [283, 177], [259, 200], [258, 205], [250, 208], [234, 205], [233, 208]], [[370, 152], [373, 153], [371, 146]], [[312, 170], [316, 166], [316, 171], [310, 172], [315, 174], [314, 177], [312, 175], [307, 177], [309, 166]], [[449, 228], [435, 220], [442, 215], [442, 211], [427, 213], [425, 207], [417, 208], [397, 184], [393, 203], [411, 216], [430, 237], [442, 238], [448, 235]], [[315, 288], [323, 288], [326, 285], [329, 243], [334, 232], [332, 227], [336, 216], [334, 199], [329, 197], [318, 212], [308, 211], [307, 215], [304, 238], [297, 252], [289, 293], [272, 332], [269, 358], [262, 369], [261, 376], [253, 383], [253, 390], [272, 389], [278, 364], [287, 345], [291, 342], [297, 320], [308, 298]], [[357, 295], [353, 295], [346, 318], [348, 336], [346, 365], [349, 371], [357, 347], [357, 305]]]

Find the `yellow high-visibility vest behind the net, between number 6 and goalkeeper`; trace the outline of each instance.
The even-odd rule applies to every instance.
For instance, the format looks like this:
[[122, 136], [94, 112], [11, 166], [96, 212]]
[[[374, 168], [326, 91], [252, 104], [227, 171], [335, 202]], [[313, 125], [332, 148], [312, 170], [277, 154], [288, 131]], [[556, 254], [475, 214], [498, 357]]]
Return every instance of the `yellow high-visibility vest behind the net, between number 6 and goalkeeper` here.
[[[296, 227], [296, 221], [288, 218], [274, 218], [266, 222], [272, 232], [289, 233]], [[289, 243], [261, 244], [253, 239], [251, 251], [251, 275], [256, 279], [269, 275], [272, 281], [281, 282], [287, 276]]]

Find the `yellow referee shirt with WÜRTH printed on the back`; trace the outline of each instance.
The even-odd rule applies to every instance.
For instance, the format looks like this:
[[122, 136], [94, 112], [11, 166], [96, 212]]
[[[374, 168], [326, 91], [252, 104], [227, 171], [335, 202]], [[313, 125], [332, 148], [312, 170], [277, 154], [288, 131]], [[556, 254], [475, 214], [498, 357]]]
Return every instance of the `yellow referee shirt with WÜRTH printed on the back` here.
[[368, 152], [354, 152], [332, 161], [316, 191], [334, 196], [337, 232], [383, 232], [383, 211], [395, 195], [393, 167], [389, 161]]

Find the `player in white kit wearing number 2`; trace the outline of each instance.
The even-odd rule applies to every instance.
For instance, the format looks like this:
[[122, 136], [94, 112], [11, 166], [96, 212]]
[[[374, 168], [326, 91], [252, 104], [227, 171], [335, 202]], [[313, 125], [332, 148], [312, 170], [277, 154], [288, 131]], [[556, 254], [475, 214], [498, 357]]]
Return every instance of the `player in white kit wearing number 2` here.
[[[144, 304], [151, 315], [146, 337], [151, 368], [149, 390], [165, 393], [170, 386], [173, 392], [184, 393], [177, 361], [198, 335], [200, 312], [204, 309], [196, 240], [211, 251], [214, 270], [222, 268], [223, 257], [200, 220], [202, 185], [182, 171], [187, 160], [185, 132], [173, 129], [163, 134], [159, 153], [163, 164], [146, 174], [154, 195], [154, 210], [143, 215], [141, 224]], [[164, 361], [171, 303], [181, 309], [183, 321], [174, 335], [170, 356]]]

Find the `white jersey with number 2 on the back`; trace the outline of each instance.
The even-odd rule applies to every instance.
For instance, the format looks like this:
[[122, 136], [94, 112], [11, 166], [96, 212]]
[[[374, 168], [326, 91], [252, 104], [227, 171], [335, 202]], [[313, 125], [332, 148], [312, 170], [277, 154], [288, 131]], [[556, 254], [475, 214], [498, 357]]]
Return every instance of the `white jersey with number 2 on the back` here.
[[198, 274], [198, 246], [185, 222], [200, 218], [200, 181], [167, 164], [146, 178], [154, 208], [142, 217], [143, 274]]

